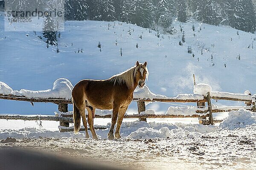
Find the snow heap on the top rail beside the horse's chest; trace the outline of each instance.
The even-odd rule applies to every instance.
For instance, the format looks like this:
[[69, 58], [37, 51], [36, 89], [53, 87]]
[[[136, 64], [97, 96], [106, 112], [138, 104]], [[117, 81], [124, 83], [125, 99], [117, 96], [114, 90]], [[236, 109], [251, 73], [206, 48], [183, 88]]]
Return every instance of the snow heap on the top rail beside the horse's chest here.
[[169, 99], [167, 96], [152, 93], [146, 85], [143, 88], [137, 87], [133, 96], [135, 99]]

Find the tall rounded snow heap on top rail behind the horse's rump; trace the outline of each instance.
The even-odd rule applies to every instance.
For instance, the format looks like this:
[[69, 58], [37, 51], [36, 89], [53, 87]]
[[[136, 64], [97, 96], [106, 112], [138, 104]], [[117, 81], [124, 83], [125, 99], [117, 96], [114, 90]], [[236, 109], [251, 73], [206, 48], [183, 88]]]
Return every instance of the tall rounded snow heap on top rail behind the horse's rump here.
[[53, 88], [44, 91], [30, 91], [21, 89], [20, 94], [29, 98], [63, 98], [71, 99], [73, 85], [68, 79], [60, 78], [55, 80]]

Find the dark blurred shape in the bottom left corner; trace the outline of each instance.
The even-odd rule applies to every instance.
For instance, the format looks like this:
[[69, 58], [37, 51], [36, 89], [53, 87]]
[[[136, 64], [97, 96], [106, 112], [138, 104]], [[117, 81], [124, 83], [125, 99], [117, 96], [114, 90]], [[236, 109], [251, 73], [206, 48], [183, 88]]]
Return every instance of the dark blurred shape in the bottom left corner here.
[[0, 149], [0, 170], [120, 170], [109, 164], [91, 160], [77, 160], [68, 156], [38, 150]]

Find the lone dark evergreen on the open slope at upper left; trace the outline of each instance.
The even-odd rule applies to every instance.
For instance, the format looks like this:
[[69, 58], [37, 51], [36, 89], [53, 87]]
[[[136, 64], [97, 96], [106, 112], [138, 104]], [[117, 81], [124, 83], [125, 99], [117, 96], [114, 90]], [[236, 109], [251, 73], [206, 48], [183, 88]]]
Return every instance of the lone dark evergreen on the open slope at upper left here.
[[50, 45], [58, 45], [56, 39], [56, 31], [52, 17], [47, 17], [44, 20], [43, 36], [46, 38], [46, 43]]

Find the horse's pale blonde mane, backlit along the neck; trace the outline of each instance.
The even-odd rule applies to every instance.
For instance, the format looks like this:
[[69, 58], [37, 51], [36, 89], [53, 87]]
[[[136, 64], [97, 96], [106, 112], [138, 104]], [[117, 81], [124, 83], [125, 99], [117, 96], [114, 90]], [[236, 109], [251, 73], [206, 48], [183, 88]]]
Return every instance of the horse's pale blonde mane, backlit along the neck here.
[[[110, 78], [110, 80], [112, 82], [114, 82], [114, 85], [115, 84], [122, 84], [122, 83], [124, 83], [124, 84], [127, 85], [127, 87], [129, 89], [134, 88], [134, 79], [135, 79], [135, 74], [134, 73], [136, 73], [136, 71], [138, 70], [140, 65], [138, 65], [137, 67], [134, 66], [134, 67], [132, 67], [132, 68], [126, 70], [126, 71], [123, 71], [123, 72], [121, 72], [119, 74], [113, 75]], [[146, 79], [148, 79], [148, 68], [145, 67], [145, 66], [143, 68], [146, 71]]]

